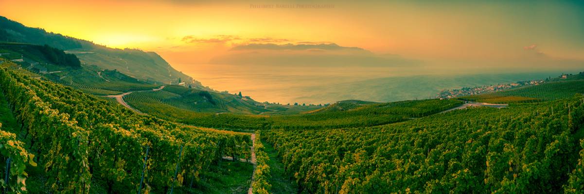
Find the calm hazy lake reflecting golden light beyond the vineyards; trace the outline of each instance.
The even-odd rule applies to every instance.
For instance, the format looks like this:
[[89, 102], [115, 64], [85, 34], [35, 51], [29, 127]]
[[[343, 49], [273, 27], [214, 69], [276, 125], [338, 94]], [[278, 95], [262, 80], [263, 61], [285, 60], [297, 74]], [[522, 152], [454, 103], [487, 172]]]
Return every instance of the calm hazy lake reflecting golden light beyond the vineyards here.
[[256, 101], [283, 104], [324, 104], [349, 99], [379, 102], [422, 99], [433, 97], [443, 89], [543, 79], [560, 74], [445, 75], [412, 68], [271, 68], [234, 65], [189, 65], [189, 69], [183, 72], [212, 89], [230, 93], [241, 91], [244, 96], [251, 96]]

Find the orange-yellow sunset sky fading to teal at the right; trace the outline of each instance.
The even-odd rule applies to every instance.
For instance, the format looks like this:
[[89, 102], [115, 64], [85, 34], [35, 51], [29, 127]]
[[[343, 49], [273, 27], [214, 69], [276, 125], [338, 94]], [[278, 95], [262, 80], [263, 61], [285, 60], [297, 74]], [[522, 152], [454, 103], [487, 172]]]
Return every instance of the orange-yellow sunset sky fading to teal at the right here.
[[584, 3], [576, 2], [0, 0], [0, 15], [156, 51], [179, 66], [230, 61], [241, 45], [288, 43], [335, 43], [434, 65], [573, 65], [584, 60]]

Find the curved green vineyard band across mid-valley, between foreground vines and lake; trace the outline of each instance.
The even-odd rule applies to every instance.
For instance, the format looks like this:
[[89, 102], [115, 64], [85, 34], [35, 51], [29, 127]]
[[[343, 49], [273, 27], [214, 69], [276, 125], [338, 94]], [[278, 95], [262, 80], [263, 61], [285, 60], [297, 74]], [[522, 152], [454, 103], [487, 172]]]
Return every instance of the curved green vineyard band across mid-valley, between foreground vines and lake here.
[[366, 105], [350, 111], [323, 112], [296, 115], [235, 115], [206, 114], [173, 107], [156, 98], [130, 99], [127, 103], [146, 114], [185, 124], [230, 130], [257, 129], [315, 129], [375, 126], [424, 117], [456, 107], [456, 100], [417, 100]]

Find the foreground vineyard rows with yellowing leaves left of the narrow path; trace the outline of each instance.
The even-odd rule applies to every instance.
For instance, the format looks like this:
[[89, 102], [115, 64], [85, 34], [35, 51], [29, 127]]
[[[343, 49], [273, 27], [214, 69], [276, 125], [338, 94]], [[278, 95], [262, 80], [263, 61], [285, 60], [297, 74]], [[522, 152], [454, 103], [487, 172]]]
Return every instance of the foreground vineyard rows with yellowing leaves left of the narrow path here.
[[135, 192], [140, 185], [142, 193], [190, 188], [222, 156], [249, 156], [246, 133], [138, 115], [5, 67], [0, 86], [23, 128], [20, 140], [38, 156], [53, 192], [89, 193], [95, 179], [115, 193]]

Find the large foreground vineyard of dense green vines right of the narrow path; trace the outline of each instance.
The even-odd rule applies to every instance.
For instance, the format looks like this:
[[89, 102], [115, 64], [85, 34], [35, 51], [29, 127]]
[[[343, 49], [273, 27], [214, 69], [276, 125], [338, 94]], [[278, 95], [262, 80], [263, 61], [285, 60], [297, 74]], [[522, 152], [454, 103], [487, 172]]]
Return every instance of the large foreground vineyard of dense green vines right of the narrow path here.
[[309, 193], [581, 193], [584, 97], [369, 128], [266, 130]]

